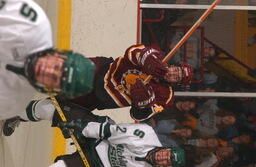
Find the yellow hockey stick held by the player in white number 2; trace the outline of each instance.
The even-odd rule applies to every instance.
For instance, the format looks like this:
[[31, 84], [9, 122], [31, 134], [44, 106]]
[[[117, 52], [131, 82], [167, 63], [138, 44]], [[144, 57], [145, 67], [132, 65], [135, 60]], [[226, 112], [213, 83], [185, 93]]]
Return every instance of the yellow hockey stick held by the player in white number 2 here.
[[[54, 104], [55, 106], [55, 109], [57, 110], [58, 114], [60, 115], [60, 118], [62, 121], [67, 121], [62, 109], [60, 108], [60, 105], [58, 103], [58, 101], [56, 100], [56, 98], [54, 96], [50, 96], [51, 100], [52, 100], [52, 103]], [[85, 167], [90, 167], [90, 164], [88, 162], [88, 160], [86, 159], [86, 156], [83, 152], [83, 150], [81, 149], [76, 137], [73, 135], [73, 132], [71, 130], [69, 130], [69, 135], [71, 137], [71, 139], [73, 140], [75, 146], [76, 146], [76, 149], [85, 165]]]

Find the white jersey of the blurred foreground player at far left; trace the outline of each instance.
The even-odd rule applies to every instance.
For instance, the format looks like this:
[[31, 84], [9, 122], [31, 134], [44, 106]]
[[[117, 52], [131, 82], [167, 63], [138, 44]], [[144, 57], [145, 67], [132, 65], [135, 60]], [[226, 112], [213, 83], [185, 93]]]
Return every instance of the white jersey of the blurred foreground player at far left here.
[[50, 22], [32, 0], [0, 0], [0, 120], [24, 111], [35, 90], [6, 64], [23, 66], [29, 54], [52, 47]]

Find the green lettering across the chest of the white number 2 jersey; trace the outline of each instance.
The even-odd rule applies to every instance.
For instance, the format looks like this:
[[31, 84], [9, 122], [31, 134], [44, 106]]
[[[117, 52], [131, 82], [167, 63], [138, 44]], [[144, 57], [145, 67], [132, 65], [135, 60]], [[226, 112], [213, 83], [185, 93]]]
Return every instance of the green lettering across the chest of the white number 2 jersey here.
[[124, 146], [118, 144], [116, 147], [109, 146], [108, 148], [108, 158], [111, 167], [126, 167], [127, 160], [123, 156]]

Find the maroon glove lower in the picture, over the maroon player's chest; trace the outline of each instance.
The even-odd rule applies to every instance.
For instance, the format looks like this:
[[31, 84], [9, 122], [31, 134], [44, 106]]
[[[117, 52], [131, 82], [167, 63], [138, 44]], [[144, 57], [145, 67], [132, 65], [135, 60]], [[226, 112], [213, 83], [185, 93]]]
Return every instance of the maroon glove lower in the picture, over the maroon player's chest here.
[[144, 85], [142, 80], [137, 79], [136, 83], [131, 85], [132, 105], [140, 109], [151, 107], [155, 102], [155, 94], [149, 85]]

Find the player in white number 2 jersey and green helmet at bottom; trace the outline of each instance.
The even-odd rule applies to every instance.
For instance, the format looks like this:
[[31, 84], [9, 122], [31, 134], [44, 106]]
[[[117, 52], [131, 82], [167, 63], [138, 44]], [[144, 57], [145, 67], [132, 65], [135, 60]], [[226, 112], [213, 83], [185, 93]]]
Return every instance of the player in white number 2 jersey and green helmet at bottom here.
[[[153, 128], [147, 124], [110, 124], [84, 119], [61, 122], [59, 127], [81, 133], [82, 146], [90, 166], [97, 167], [181, 167], [185, 152], [179, 147], [162, 147]], [[92, 138], [96, 139], [92, 141]], [[81, 137], [80, 137], [81, 139]], [[57, 158], [50, 167], [82, 167], [78, 154]]]

